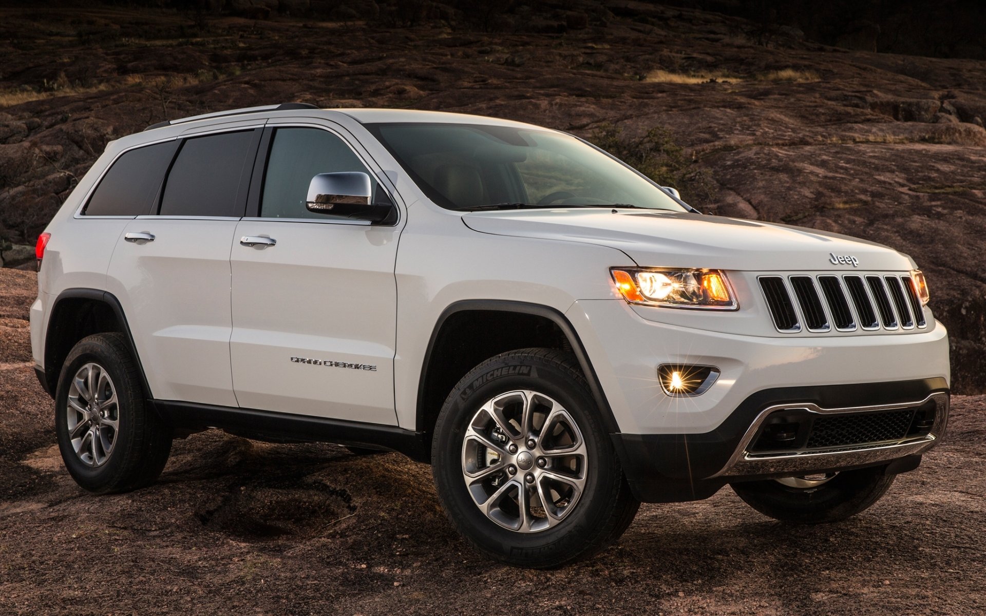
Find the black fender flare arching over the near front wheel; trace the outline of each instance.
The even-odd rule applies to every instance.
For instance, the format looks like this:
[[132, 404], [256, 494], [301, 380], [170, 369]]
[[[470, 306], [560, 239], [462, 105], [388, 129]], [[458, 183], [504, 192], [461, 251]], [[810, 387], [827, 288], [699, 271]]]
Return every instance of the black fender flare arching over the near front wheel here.
[[578, 360], [579, 366], [582, 368], [582, 372], [586, 376], [586, 380], [589, 381], [589, 389], [593, 394], [593, 399], [599, 407], [599, 416], [602, 420], [603, 427], [609, 434], [619, 433], [619, 424], [616, 423], [616, 417], [613, 415], [612, 408], [610, 408], [609, 402], [606, 400], [606, 396], [602, 391], [599, 376], [596, 375], [596, 370], [593, 368], [593, 364], [589, 360], [589, 354], [586, 353], [586, 347], [583, 346], [582, 340], [579, 338], [579, 334], [575, 331], [572, 323], [569, 322], [568, 318], [566, 318], [564, 314], [555, 308], [541, 304], [531, 304], [528, 302], [518, 302], [514, 300], [461, 300], [442, 310], [442, 313], [439, 315], [438, 320], [435, 322], [435, 326], [432, 329], [431, 337], [428, 340], [428, 347], [425, 350], [424, 362], [421, 366], [421, 376], [418, 379], [418, 401], [417, 411], [415, 414], [415, 429], [418, 432], [423, 430], [422, 425], [425, 417], [427, 416], [427, 413], [425, 412], [424, 400], [425, 383], [428, 380], [428, 367], [432, 361], [432, 354], [435, 348], [435, 342], [438, 339], [438, 334], [442, 331], [442, 327], [445, 325], [445, 322], [450, 316], [456, 314], [457, 312], [467, 310], [496, 310], [503, 312], [532, 314], [547, 318], [557, 325], [558, 329], [561, 330], [562, 334], [568, 340], [569, 345], [572, 347], [572, 353], [575, 355], [576, 360]]

